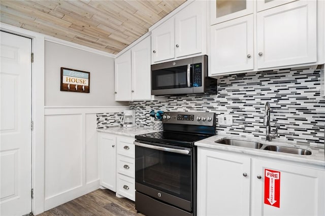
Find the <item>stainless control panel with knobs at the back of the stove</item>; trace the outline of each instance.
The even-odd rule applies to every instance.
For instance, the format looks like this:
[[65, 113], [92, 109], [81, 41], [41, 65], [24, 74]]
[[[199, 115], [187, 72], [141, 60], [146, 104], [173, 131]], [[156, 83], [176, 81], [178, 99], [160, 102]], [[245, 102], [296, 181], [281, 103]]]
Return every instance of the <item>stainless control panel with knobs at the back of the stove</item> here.
[[215, 113], [164, 112], [163, 123], [215, 126]]

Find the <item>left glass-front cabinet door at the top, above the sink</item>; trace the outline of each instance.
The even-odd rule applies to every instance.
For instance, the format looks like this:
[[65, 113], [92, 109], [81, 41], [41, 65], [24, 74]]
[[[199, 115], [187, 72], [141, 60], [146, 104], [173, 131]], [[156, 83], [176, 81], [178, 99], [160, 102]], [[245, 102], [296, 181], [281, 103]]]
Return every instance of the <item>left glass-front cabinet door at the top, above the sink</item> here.
[[[267, 1], [267, 0], [265, 0]], [[270, 1], [270, 0], [269, 0]], [[210, 24], [228, 21], [253, 13], [252, 0], [214, 0], [210, 2]]]

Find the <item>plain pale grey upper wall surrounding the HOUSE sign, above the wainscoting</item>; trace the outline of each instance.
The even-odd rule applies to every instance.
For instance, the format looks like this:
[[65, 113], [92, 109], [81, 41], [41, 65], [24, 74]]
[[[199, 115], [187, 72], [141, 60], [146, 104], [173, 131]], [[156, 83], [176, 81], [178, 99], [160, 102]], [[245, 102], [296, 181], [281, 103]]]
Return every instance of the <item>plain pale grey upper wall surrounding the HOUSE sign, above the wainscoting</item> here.
[[[90, 93], [60, 91], [61, 67], [90, 72]], [[128, 105], [114, 97], [114, 58], [45, 42], [46, 106]]]

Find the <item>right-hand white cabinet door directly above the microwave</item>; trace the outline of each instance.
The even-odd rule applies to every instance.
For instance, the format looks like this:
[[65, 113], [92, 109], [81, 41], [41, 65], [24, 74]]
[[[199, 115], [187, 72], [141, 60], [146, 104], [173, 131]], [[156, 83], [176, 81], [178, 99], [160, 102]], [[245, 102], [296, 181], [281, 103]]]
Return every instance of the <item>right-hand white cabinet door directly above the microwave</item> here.
[[205, 1], [193, 2], [175, 16], [176, 57], [202, 52], [202, 34], [206, 31], [206, 22], [203, 19], [205, 4]]

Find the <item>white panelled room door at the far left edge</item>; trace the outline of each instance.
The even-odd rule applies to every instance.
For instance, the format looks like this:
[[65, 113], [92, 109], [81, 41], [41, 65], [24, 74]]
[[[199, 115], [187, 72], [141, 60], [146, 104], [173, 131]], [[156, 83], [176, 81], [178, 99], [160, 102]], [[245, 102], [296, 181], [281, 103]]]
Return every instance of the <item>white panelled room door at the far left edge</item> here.
[[31, 40], [1, 32], [1, 215], [31, 212]]

